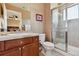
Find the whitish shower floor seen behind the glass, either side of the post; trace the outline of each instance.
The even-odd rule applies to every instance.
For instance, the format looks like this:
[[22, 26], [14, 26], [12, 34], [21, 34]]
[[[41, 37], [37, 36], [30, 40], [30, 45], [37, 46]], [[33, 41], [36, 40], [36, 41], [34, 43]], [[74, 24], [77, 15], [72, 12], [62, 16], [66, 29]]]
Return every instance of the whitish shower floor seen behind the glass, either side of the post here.
[[[55, 47], [64, 50], [65, 49], [65, 44], [57, 43], [57, 44], [55, 44]], [[79, 56], [79, 48], [75, 47], [75, 46], [68, 45], [68, 52], [67, 53], [71, 54], [73, 56]]]

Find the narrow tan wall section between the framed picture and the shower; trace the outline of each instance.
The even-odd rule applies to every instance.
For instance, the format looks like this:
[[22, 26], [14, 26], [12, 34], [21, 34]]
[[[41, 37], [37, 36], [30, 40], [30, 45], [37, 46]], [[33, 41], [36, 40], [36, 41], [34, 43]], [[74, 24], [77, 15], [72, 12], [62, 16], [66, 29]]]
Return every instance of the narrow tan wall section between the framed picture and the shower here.
[[50, 4], [44, 5], [44, 32], [46, 34], [47, 40], [51, 41], [51, 10]]

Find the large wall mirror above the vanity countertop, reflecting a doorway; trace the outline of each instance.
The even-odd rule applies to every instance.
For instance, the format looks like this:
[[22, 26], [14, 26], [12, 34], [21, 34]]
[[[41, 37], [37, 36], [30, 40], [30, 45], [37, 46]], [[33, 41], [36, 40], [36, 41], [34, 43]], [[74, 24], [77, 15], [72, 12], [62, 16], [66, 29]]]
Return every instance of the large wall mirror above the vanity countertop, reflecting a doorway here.
[[[19, 4], [5, 4], [7, 13], [7, 31], [18, 32], [18, 31], [29, 31], [30, 25], [30, 11], [27, 11]], [[22, 4], [24, 5], [24, 4]]]

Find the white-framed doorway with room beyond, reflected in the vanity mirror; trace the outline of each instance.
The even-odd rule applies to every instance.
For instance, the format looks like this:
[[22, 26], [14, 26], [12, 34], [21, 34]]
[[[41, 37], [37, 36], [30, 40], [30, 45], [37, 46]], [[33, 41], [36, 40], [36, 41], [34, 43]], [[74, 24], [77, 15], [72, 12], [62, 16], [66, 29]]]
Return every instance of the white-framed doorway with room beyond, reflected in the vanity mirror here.
[[7, 31], [22, 30], [22, 14], [21, 12], [7, 10]]

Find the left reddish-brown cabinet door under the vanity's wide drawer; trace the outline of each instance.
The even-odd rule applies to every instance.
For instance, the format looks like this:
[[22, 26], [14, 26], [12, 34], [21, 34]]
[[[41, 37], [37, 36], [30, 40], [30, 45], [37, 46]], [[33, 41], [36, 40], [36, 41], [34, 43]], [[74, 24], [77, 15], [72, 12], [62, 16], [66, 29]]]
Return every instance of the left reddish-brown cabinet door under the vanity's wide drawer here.
[[21, 56], [21, 48], [4, 51], [2, 56]]

